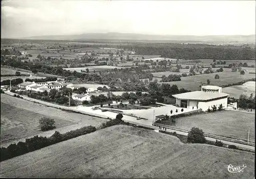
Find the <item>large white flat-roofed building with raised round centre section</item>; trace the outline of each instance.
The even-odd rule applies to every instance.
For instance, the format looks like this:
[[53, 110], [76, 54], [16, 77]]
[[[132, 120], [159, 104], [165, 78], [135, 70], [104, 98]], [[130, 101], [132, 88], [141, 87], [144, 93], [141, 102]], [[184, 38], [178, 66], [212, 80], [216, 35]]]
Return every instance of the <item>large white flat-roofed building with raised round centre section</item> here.
[[227, 97], [229, 94], [222, 93], [218, 86], [202, 86], [201, 91], [192, 91], [181, 94], [174, 94], [176, 105], [181, 108], [198, 108], [206, 111], [212, 106], [227, 108]]

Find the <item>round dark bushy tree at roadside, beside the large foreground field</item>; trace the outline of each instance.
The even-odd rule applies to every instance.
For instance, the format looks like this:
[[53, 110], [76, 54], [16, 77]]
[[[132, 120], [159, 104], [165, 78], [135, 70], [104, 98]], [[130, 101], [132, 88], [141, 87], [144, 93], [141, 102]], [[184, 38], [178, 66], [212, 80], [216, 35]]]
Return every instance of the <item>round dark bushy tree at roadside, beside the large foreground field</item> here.
[[203, 130], [198, 127], [192, 127], [192, 129], [188, 132], [187, 142], [189, 143], [205, 143], [205, 137]]

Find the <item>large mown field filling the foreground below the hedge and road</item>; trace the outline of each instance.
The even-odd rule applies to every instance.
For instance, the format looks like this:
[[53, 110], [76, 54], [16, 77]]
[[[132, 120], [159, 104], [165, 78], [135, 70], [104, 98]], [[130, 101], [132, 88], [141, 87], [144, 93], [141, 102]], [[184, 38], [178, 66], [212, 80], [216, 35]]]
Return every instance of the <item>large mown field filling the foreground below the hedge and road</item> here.
[[[116, 125], [1, 162], [2, 177], [253, 178], [254, 154]], [[230, 173], [225, 165], [245, 165]], [[31, 170], [33, 168], [33, 170]]]

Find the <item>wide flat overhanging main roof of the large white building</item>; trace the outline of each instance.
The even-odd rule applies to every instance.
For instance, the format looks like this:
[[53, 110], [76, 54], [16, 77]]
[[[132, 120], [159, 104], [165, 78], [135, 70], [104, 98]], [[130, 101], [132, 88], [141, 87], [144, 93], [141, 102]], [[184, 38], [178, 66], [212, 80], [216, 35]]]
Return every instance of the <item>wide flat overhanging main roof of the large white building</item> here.
[[207, 93], [204, 91], [192, 91], [187, 93], [181, 93], [181, 94], [174, 94], [172, 95], [175, 98], [179, 99], [190, 99], [190, 100], [210, 100], [220, 97], [228, 96], [227, 93]]

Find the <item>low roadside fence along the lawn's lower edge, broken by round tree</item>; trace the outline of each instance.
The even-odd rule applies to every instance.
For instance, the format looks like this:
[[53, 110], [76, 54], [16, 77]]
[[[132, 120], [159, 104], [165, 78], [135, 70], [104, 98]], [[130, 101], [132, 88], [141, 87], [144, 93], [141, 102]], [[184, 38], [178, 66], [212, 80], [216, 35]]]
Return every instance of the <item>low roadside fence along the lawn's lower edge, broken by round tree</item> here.
[[[165, 125], [165, 124], [154, 123], [154, 125], [155, 126], [165, 127], [167, 129], [170, 129], [170, 130], [184, 132], [184, 133], [188, 133], [189, 132], [189, 130], [187, 130], [187, 129], [182, 129], [180, 127], [175, 127], [175, 126], [170, 126], [170, 125]], [[217, 136], [217, 135], [208, 134], [208, 133], [204, 133], [204, 136], [205, 137], [214, 138], [214, 139], [219, 139], [219, 140], [225, 140], [225, 141], [229, 141], [229, 142], [240, 143], [240, 144], [244, 144], [244, 145], [255, 146], [255, 143], [252, 143], [252, 142], [249, 142], [249, 144], [248, 144], [248, 142], [246, 142], [246, 141], [237, 140], [237, 139], [231, 139], [231, 138]]]

